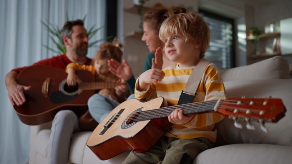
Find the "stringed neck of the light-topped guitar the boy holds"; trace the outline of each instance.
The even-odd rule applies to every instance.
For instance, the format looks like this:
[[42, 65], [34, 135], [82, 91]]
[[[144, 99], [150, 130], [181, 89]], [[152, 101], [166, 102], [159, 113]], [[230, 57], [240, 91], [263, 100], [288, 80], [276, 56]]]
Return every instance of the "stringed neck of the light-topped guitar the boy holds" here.
[[144, 120], [151, 120], [156, 118], [164, 118], [167, 117], [177, 108], [183, 110], [184, 115], [189, 114], [200, 114], [206, 113], [211, 111], [217, 111], [219, 103], [221, 100], [210, 100], [210, 101], [201, 101], [201, 102], [194, 102], [189, 104], [183, 105], [175, 105], [170, 107], [163, 107], [158, 109], [152, 109], [147, 111], [141, 111], [139, 116], [135, 116], [136, 118], [133, 119], [133, 122], [144, 121]]

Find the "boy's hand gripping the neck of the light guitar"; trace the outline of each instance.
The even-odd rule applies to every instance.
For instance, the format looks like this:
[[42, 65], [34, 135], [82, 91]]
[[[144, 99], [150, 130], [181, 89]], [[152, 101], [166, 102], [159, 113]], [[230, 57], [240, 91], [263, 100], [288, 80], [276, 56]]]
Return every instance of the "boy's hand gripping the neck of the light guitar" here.
[[175, 109], [170, 115], [168, 115], [168, 121], [177, 125], [184, 125], [190, 122], [195, 115], [183, 115], [182, 109]]

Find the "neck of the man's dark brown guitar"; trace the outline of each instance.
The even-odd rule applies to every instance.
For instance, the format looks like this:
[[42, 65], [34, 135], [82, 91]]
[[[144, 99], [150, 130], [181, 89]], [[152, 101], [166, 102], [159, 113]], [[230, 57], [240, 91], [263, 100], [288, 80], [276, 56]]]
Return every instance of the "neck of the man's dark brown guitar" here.
[[80, 90], [95, 90], [114, 88], [115, 86], [121, 85], [121, 82], [81, 82], [79, 84]]

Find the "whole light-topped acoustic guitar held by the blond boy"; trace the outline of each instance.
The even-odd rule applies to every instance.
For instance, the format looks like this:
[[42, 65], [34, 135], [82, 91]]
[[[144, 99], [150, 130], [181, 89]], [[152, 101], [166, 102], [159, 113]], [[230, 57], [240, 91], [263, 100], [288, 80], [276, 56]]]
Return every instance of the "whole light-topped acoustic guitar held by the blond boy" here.
[[101, 160], [127, 150], [144, 152], [171, 130], [167, 116], [176, 108], [181, 108], [184, 115], [217, 112], [235, 120], [238, 128], [237, 120], [244, 119], [249, 129], [253, 129], [252, 121], [261, 123], [264, 129], [265, 122], [277, 122], [286, 112], [278, 98], [219, 99], [170, 107], [162, 107], [163, 102], [160, 97], [147, 102], [129, 99], [121, 103], [92, 132], [87, 146]]

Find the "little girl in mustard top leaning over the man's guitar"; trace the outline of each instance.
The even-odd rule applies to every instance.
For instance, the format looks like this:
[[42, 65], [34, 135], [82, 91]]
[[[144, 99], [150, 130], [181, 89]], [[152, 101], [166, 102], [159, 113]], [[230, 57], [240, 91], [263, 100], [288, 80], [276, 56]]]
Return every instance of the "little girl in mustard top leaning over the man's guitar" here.
[[[90, 66], [80, 65], [77, 63], [70, 63], [67, 65], [66, 72], [68, 73], [68, 86], [76, 85], [76, 80], [81, 82], [75, 73], [76, 70], [91, 71], [91, 73], [95, 76], [95, 82], [120, 82], [121, 79], [110, 72], [108, 60], [115, 59], [121, 62], [123, 52], [120, 48], [122, 48], [122, 46], [122, 43], [114, 39], [112, 43], [107, 42], [100, 46], [99, 50], [93, 57]], [[116, 100], [117, 102], [124, 101], [126, 96], [117, 91], [117, 89], [102, 89], [98, 92], [98, 94]]]

